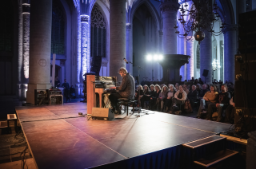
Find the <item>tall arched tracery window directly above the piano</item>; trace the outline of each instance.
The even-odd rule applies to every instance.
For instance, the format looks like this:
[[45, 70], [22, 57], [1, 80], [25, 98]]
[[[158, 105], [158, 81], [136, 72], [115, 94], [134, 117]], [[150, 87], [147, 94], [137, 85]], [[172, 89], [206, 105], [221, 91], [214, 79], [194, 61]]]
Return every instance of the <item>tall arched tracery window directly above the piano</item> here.
[[91, 11], [90, 57], [106, 57], [106, 22], [98, 6]]

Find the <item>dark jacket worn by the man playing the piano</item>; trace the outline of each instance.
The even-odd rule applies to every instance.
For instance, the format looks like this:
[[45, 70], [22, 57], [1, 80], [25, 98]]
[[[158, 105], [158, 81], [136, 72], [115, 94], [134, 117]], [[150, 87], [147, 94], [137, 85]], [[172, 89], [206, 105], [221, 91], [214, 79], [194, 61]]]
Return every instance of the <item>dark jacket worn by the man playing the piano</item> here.
[[134, 98], [135, 96], [135, 81], [134, 77], [130, 76], [130, 73], [126, 73], [126, 76], [122, 77], [122, 83], [119, 87], [119, 94], [124, 98]]

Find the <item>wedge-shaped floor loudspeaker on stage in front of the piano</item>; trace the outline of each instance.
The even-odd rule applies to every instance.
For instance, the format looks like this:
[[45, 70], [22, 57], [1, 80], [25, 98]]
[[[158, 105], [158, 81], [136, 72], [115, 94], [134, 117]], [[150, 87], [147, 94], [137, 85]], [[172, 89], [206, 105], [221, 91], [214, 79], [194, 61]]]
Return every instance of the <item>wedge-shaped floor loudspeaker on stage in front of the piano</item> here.
[[114, 113], [110, 108], [93, 108], [91, 117], [95, 120], [113, 120]]

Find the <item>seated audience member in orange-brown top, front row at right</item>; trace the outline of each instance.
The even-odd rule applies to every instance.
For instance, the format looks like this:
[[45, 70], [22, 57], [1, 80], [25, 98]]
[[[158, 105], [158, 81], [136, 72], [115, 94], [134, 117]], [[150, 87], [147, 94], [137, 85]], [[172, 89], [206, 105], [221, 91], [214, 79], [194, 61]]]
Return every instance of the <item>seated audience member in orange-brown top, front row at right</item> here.
[[209, 107], [209, 104], [215, 105], [218, 100], [218, 92], [215, 85], [210, 86], [210, 91], [206, 92], [206, 94], [200, 100], [200, 107], [198, 109], [197, 117], [200, 118], [201, 112], [206, 112], [206, 106]]

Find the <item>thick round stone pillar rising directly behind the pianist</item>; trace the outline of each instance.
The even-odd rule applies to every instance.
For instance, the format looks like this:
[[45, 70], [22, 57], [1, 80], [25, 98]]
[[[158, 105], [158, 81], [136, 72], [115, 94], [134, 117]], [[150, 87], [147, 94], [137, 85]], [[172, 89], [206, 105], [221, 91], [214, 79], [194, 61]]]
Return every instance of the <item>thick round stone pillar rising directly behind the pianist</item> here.
[[122, 77], [120, 67], [126, 67], [126, 0], [110, 1], [110, 77]]

